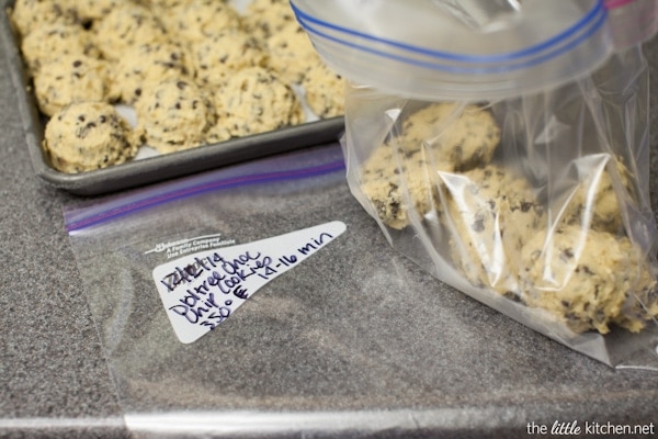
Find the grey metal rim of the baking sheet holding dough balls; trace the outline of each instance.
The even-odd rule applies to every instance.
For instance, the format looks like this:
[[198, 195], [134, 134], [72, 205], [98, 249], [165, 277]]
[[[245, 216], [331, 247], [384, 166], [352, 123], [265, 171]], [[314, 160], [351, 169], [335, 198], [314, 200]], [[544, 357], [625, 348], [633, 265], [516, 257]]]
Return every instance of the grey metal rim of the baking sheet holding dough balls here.
[[343, 117], [307, 122], [274, 132], [204, 145], [183, 151], [131, 160], [82, 173], [64, 173], [50, 166], [41, 147], [46, 119], [38, 112], [20, 53], [19, 37], [9, 19], [14, 0], [0, 0], [0, 41], [4, 45], [11, 79], [18, 94], [18, 110], [23, 120], [30, 157], [35, 173], [43, 181], [80, 195], [97, 195], [148, 183], [188, 176], [245, 160], [285, 153], [337, 140], [344, 130]]

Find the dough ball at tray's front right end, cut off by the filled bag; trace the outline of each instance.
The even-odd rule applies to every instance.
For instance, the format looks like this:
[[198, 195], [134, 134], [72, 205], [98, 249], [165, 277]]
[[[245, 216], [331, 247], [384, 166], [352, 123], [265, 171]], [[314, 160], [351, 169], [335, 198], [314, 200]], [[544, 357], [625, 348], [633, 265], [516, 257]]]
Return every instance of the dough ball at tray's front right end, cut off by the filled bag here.
[[345, 80], [316, 58], [302, 82], [306, 103], [320, 119], [341, 116], [345, 112]]

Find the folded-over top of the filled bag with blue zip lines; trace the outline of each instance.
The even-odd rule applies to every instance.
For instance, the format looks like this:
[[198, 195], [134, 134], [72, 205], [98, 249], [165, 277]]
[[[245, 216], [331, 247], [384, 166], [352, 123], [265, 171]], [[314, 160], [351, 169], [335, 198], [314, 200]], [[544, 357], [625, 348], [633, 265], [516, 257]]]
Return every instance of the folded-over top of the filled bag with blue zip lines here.
[[484, 3], [494, 2], [291, 1], [328, 66], [420, 100], [543, 90], [587, 75], [613, 47], [600, 0], [476, 8]]

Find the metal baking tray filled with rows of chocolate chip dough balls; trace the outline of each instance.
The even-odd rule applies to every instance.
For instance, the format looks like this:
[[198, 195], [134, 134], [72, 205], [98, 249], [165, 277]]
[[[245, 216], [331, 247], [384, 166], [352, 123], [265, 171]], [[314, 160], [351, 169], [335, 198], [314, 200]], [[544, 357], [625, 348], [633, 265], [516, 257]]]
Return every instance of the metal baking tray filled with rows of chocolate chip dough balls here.
[[0, 0], [36, 175], [100, 194], [337, 140], [343, 79], [285, 0]]

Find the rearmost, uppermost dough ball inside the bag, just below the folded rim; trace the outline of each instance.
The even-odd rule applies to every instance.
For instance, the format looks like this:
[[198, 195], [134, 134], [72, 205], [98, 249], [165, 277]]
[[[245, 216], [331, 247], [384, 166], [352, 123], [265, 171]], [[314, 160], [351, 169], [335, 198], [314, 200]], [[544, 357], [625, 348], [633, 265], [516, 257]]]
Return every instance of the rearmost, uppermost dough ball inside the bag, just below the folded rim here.
[[428, 145], [436, 159], [465, 170], [491, 160], [500, 143], [500, 128], [490, 112], [477, 105], [434, 103], [416, 111], [402, 122], [405, 145]]

